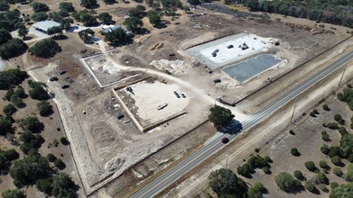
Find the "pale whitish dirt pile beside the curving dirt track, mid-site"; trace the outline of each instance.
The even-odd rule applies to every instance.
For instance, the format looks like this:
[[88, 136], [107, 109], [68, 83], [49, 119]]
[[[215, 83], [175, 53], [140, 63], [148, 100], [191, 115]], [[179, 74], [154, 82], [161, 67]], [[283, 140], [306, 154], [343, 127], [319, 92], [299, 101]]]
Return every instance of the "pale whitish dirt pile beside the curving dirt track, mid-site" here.
[[185, 61], [182, 61], [180, 59], [177, 59], [177, 60], [168, 60], [168, 59], [153, 60], [150, 63], [150, 65], [158, 68], [159, 70], [168, 71], [168, 72], [175, 74], [175, 75], [185, 74], [188, 71], [188, 69], [190, 68], [190, 65], [188, 63], [186, 63]]

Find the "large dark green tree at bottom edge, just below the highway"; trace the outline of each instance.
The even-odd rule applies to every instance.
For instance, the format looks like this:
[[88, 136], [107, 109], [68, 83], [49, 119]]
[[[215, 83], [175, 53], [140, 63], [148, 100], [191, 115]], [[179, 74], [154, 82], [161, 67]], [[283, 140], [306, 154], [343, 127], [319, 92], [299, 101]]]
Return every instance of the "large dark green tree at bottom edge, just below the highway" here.
[[220, 168], [209, 175], [209, 186], [218, 197], [244, 197], [247, 185], [230, 169]]

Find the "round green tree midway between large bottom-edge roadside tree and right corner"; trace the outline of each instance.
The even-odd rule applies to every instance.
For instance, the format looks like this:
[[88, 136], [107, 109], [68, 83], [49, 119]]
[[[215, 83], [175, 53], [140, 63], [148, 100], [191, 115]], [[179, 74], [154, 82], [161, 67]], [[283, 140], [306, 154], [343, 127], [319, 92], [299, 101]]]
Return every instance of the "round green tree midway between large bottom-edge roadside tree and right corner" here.
[[301, 190], [302, 184], [288, 173], [280, 173], [274, 177], [277, 186], [286, 193], [295, 193]]

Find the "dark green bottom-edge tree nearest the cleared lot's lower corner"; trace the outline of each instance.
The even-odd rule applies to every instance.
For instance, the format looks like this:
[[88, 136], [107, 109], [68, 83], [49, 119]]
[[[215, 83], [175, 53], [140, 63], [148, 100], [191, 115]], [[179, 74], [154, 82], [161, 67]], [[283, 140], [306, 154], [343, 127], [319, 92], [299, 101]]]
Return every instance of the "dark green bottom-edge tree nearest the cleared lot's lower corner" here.
[[59, 173], [52, 177], [52, 194], [58, 198], [77, 197], [76, 184], [72, 181], [70, 175]]

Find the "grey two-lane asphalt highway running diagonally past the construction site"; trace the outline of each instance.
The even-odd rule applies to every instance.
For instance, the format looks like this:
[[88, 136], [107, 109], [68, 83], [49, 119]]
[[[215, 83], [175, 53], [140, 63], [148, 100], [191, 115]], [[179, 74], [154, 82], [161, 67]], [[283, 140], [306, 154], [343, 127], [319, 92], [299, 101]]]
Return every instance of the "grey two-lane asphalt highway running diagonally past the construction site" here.
[[[255, 112], [254, 115], [250, 116], [246, 121], [243, 121], [243, 130], [249, 130], [255, 126], [255, 124], [262, 121], [267, 116], [271, 115], [279, 108], [281, 108], [285, 103], [292, 101], [299, 94], [302, 94], [305, 90], [310, 88], [312, 85], [317, 84], [324, 77], [329, 76], [332, 72], [337, 70], [339, 67], [342, 67], [346, 64], [350, 59], [353, 58], [353, 51], [348, 52], [346, 55], [337, 59], [329, 66], [323, 68], [318, 73], [310, 76], [304, 82], [299, 85], [294, 86], [287, 93], [279, 96], [274, 99], [273, 102], [265, 105], [264, 108]], [[234, 138], [235, 135], [223, 134], [217, 139], [213, 139], [209, 141], [206, 145], [200, 148], [198, 151], [190, 155], [190, 157], [182, 160], [178, 165], [173, 166], [170, 170], [160, 175], [158, 178], [153, 180], [150, 184], [147, 184], [140, 191], [132, 195], [132, 198], [150, 198], [153, 195], [160, 193], [164, 188], [173, 184], [182, 175], [187, 174], [192, 168], [200, 165], [201, 162], [208, 159], [212, 155], [214, 155], [219, 148], [224, 147], [225, 145], [220, 141], [223, 137]]]

